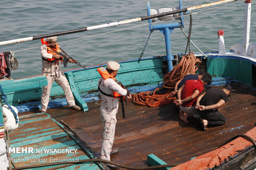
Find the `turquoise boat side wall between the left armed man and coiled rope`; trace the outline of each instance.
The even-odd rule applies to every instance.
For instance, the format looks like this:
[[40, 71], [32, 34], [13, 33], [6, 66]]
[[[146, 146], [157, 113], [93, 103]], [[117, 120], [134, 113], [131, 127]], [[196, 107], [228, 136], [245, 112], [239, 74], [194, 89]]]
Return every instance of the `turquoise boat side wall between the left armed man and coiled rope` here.
[[[159, 82], [163, 79], [161, 57], [142, 60], [140, 63], [137, 60], [119, 61], [119, 63], [120, 69], [116, 79], [125, 86]], [[73, 74], [74, 83], [79, 93], [94, 91], [98, 89], [97, 83], [101, 76], [97, 72], [97, 68], [101, 66], [86, 70], [74, 70], [73, 72], [66, 72], [65, 75]]]

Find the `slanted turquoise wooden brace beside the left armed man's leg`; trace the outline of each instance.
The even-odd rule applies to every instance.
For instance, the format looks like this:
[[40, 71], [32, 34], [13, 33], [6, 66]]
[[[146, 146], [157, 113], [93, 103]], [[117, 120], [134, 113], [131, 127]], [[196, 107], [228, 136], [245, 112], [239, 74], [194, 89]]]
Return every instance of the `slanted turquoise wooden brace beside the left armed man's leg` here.
[[76, 90], [76, 84], [74, 82], [73, 75], [76, 75], [76, 74], [75, 73], [73, 74], [72, 72], [69, 72], [69, 73], [66, 74], [66, 78], [69, 81], [69, 85], [70, 85], [71, 91], [73, 93], [76, 105], [81, 107], [81, 110], [83, 110], [83, 112], [86, 112], [88, 110], [88, 106], [87, 106], [86, 102], [83, 101], [83, 99], [80, 97], [78, 91]]

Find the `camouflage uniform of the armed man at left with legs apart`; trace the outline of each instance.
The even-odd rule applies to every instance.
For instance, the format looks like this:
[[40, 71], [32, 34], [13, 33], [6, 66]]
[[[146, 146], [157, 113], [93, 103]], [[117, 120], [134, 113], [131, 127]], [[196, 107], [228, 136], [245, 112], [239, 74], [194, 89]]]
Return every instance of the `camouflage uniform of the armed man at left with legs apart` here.
[[[44, 58], [52, 58], [52, 54], [47, 53], [46, 45], [40, 47], [41, 56]], [[48, 85], [43, 86], [43, 91], [41, 95], [41, 109], [43, 112], [46, 111], [49, 99], [50, 99], [50, 91], [52, 88], [52, 84], [55, 81], [59, 86], [62, 87], [66, 102], [69, 107], [75, 105], [75, 100], [69, 86], [69, 82], [64, 76], [63, 70], [60, 67], [59, 61], [56, 62], [48, 62], [42, 60], [42, 75], [46, 77]]]

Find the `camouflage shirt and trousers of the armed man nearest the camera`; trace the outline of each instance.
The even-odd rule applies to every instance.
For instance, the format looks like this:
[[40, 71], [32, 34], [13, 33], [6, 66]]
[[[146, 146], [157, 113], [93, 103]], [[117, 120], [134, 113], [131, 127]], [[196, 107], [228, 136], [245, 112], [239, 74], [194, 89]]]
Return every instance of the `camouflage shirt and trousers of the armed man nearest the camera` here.
[[[104, 93], [110, 95], [113, 95], [114, 91], [123, 96], [125, 96], [127, 93], [126, 89], [119, 86], [119, 84], [117, 84], [114, 79], [111, 78], [106, 80], [100, 78], [98, 82], [98, 86], [99, 85], [100, 89]], [[100, 97], [102, 98], [100, 114], [103, 122], [103, 139], [100, 158], [110, 161], [110, 151], [114, 141], [116, 113], [118, 111], [119, 99], [103, 95], [102, 93], [100, 93]]]

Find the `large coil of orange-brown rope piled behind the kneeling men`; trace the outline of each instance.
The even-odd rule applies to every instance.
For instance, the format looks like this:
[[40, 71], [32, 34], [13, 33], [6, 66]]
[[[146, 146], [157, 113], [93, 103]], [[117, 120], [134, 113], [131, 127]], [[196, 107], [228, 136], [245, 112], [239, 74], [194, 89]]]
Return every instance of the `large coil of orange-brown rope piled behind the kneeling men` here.
[[[156, 107], [173, 102], [176, 97], [171, 97], [170, 93], [175, 87], [176, 82], [183, 79], [187, 74], [195, 73], [200, 64], [201, 61], [194, 56], [193, 52], [190, 51], [189, 54], [183, 56], [176, 68], [164, 76], [164, 83], [161, 88], [156, 88], [153, 92], [147, 91], [136, 94], [133, 97], [133, 103], [136, 105]], [[164, 88], [167, 90], [164, 92], [159, 92], [159, 90]]]

